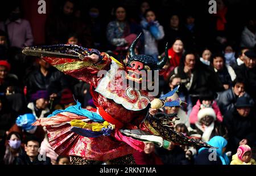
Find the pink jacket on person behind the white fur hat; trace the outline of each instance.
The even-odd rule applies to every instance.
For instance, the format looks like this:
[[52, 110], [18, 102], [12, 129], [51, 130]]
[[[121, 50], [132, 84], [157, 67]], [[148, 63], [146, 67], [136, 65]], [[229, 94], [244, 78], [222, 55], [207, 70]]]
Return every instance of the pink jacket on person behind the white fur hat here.
[[[201, 103], [200, 103], [199, 100], [197, 100], [196, 105], [193, 106], [192, 111], [191, 111], [191, 113], [189, 115], [189, 122], [191, 124], [195, 124], [197, 122], [197, 114], [198, 114], [198, 112], [200, 110], [200, 106], [201, 106]], [[221, 115], [220, 108], [218, 108], [218, 105], [217, 105], [216, 101], [213, 101], [212, 108], [213, 108], [213, 110], [216, 113], [217, 120], [222, 122], [223, 117]]]

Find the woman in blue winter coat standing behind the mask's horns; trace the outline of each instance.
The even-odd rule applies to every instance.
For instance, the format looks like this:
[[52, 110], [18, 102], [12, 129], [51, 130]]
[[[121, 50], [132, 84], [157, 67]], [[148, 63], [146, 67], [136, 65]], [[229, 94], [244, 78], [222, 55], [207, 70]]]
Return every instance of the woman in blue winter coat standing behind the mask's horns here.
[[164, 37], [163, 26], [156, 20], [155, 12], [148, 9], [144, 13], [145, 20], [141, 21], [144, 34], [144, 54], [152, 55], [158, 61], [158, 41]]

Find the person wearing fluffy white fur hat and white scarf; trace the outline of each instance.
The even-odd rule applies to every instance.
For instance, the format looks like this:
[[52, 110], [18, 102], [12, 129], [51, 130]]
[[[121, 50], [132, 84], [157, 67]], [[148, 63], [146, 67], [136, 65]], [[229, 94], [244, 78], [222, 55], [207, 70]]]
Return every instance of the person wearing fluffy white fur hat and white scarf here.
[[197, 118], [196, 131], [201, 135], [201, 140], [209, 141], [213, 136], [226, 136], [226, 129], [216, 121], [216, 113], [212, 108], [199, 110]]

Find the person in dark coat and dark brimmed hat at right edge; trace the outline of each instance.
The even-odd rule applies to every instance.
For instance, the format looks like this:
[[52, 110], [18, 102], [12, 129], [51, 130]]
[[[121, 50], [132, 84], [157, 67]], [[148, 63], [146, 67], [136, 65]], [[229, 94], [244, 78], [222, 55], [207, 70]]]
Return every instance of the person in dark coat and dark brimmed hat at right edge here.
[[237, 98], [236, 108], [224, 115], [223, 123], [228, 129], [230, 151], [236, 153], [239, 145], [254, 145], [256, 118], [248, 97]]

